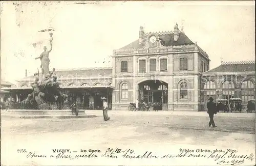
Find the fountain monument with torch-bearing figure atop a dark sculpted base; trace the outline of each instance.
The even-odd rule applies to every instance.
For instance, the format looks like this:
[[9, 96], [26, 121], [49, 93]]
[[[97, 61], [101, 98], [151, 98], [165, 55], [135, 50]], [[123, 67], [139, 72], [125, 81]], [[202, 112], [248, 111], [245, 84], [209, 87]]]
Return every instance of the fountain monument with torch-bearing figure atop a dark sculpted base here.
[[37, 73], [34, 74], [34, 81], [31, 84], [33, 92], [22, 101], [23, 108], [57, 109], [56, 105], [58, 104], [58, 108], [61, 108], [63, 102], [68, 98], [68, 95], [60, 92], [55, 68], [53, 68], [52, 72], [49, 70], [49, 53], [52, 50], [52, 35], [53, 33], [50, 33], [50, 49], [47, 51], [45, 46], [44, 52], [35, 58], [41, 60], [42, 79], [39, 80], [39, 70], [37, 69]]

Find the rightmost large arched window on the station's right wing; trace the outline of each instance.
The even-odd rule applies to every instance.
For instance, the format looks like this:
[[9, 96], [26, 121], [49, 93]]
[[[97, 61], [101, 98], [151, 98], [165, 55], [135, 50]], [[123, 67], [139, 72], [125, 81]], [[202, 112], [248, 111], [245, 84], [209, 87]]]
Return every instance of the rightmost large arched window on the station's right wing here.
[[251, 80], [244, 80], [241, 84], [241, 99], [243, 103], [248, 100], [254, 99], [254, 84]]

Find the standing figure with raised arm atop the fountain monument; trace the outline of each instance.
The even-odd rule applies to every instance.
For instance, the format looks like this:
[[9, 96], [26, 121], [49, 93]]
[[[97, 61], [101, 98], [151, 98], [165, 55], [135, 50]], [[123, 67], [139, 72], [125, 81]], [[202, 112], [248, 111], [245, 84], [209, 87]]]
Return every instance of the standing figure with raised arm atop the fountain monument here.
[[52, 40], [53, 40], [52, 35], [53, 34], [50, 33], [50, 46], [51, 46], [50, 49], [47, 51], [46, 46], [44, 46], [44, 52], [42, 52], [39, 57], [35, 58], [35, 60], [40, 59], [40, 61], [41, 61], [41, 66], [40, 67], [41, 67], [41, 71], [42, 71], [42, 75], [43, 75], [42, 79], [46, 75], [50, 74], [50, 71], [49, 71], [49, 64], [50, 64], [49, 53], [52, 50]]

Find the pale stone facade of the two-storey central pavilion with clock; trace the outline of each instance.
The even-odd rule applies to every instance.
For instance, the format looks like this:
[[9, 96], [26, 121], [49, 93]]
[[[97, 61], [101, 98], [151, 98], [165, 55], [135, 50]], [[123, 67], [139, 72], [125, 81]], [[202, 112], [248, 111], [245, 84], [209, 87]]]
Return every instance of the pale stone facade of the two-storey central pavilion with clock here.
[[[161, 80], [168, 84], [168, 106], [166, 110], [201, 110], [201, 87], [199, 81], [202, 72], [201, 63], [209, 64], [208, 55], [193, 42], [186, 44], [183, 33], [177, 39], [183, 45], [164, 46], [161, 42], [163, 33], [148, 33], [143, 36], [139, 32], [138, 45], [132, 47], [123, 47], [113, 51], [113, 108], [126, 109], [130, 102], [135, 102], [139, 97], [139, 84], [146, 80]], [[173, 32], [165, 32], [164, 37], [173, 37]], [[150, 39], [154, 36], [156, 41], [153, 44]], [[142, 38], [144, 40], [142, 40]], [[177, 38], [177, 37], [176, 37]], [[170, 40], [174, 40], [170, 39]], [[156, 70], [150, 71], [150, 60], [156, 60]], [[167, 70], [160, 70], [161, 59], [167, 60]], [[186, 59], [187, 67], [185, 70], [180, 69], [181, 59]], [[139, 61], [145, 60], [145, 72], [140, 72]], [[127, 71], [121, 72], [121, 62], [127, 61]], [[129, 97], [121, 99], [121, 85], [127, 82]], [[187, 84], [187, 98], [181, 99], [180, 84]]]

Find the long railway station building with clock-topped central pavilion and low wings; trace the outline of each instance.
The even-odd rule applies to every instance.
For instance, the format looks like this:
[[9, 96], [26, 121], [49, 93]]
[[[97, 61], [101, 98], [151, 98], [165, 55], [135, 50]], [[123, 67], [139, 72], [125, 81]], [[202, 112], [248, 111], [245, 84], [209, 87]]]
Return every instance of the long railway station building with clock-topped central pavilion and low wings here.
[[[83, 109], [100, 109], [106, 97], [114, 110], [127, 110], [144, 97], [162, 110], [204, 111], [209, 97], [255, 99], [255, 61], [222, 62], [210, 68], [208, 54], [175, 24], [173, 31], [145, 33], [113, 50], [112, 67], [56, 70], [60, 88]], [[16, 101], [32, 93], [33, 76], [4, 88]]]

